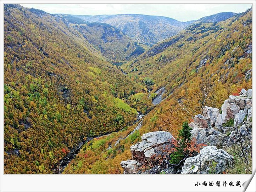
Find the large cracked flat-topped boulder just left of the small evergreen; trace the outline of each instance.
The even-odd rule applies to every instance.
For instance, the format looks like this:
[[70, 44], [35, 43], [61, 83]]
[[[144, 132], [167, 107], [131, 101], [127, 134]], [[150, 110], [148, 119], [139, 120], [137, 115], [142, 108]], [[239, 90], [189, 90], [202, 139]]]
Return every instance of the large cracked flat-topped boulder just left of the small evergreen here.
[[[130, 147], [132, 159], [140, 163], [151, 162], [151, 157], [156, 154], [163, 154], [163, 151], [172, 147], [171, 141], [174, 139], [167, 131], [149, 132], [141, 136], [141, 142]], [[174, 139], [175, 140], [175, 139]]]

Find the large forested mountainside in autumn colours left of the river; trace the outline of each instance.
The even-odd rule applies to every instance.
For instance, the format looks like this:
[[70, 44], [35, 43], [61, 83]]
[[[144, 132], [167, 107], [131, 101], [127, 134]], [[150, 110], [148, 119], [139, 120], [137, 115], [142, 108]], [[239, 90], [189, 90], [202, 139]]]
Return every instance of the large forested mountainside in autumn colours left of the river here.
[[4, 173], [53, 173], [88, 138], [136, 120], [126, 102], [146, 89], [66, 19], [5, 4], [4, 21]]

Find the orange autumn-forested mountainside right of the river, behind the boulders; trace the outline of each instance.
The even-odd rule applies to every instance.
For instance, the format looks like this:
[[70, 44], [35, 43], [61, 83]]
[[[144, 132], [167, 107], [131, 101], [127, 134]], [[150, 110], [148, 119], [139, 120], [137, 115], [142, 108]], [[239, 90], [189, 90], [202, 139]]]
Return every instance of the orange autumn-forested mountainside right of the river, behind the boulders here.
[[[234, 98], [241, 99], [238, 96], [242, 88], [252, 88], [252, 9], [218, 23], [195, 23], [179, 34], [154, 45], [133, 61], [123, 64], [121, 68], [131, 79], [153, 89], [150, 93], [144, 93], [145, 97], [162, 90], [162, 102], [137, 124], [86, 143], [63, 173], [122, 174], [124, 170], [120, 162], [132, 158], [130, 147], [136, 143], [135, 147], [138, 147], [142, 140], [145, 146], [149, 144], [145, 141], [149, 138], [148, 135], [141, 138], [143, 134], [168, 131], [174, 138], [178, 138], [178, 131], [183, 122], [193, 122], [195, 115], [203, 114], [204, 106], [217, 108], [223, 116], [222, 104], [229, 95], [234, 95], [229, 98], [230, 102], [234, 102]], [[166, 92], [160, 89], [163, 87]], [[143, 94], [134, 94], [130, 99], [136, 106], [143, 98]], [[251, 105], [250, 102], [248, 104]], [[241, 122], [244, 119], [246, 121], [246, 118], [243, 118]], [[230, 122], [234, 123], [234, 119]], [[226, 124], [227, 129], [232, 126], [230, 124]], [[198, 129], [198, 132], [201, 130], [204, 129]], [[221, 134], [213, 129], [213, 135], [214, 132]], [[226, 132], [221, 138], [226, 138], [230, 132]], [[208, 133], [210, 135], [210, 132]], [[235, 134], [230, 135], [232, 136]], [[218, 141], [218, 136], [216, 139]], [[159, 144], [158, 140], [156, 141]], [[145, 151], [150, 149], [150, 145]], [[240, 158], [240, 151], [233, 154], [230, 150], [234, 152], [236, 149], [229, 149], [229, 153], [235, 157], [234, 169], [230, 173], [251, 173], [251, 170], [241, 169], [242, 166], [251, 167], [251, 162], [246, 164]], [[149, 151], [147, 155], [152, 154]], [[144, 151], [138, 149], [136, 156], [133, 153], [133, 158], [137, 159], [141, 155], [144, 155]], [[162, 161], [157, 157], [154, 160], [155, 168], [162, 166]], [[130, 162], [127, 167], [132, 169], [134, 164]], [[151, 167], [142, 167], [139, 171], [149, 168]], [[153, 172], [156, 173], [156, 170]]]

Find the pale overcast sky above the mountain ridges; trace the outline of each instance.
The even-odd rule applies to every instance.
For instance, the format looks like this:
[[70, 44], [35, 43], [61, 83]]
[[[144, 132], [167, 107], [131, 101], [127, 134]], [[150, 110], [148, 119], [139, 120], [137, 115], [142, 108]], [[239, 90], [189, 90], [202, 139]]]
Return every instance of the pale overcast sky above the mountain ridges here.
[[[154, 4], [61, 4], [61, 2], [63, 1], [57, 1], [57, 3], [59, 2], [60, 4], [21, 3], [21, 5], [24, 7], [33, 7], [35, 9], [40, 9], [48, 13], [65, 13], [71, 15], [115, 15], [134, 13], [143, 15], [165, 16], [176, 19], [178, 21], [196, 20], [201, 17], [213, 15], [219, 12], [244, 12], [252, 6], [252, 4], [230, 4], [229, 2], [232, 1], [229, 1], [229, 4], [156, 4], [156, 2], [159, 1], [153, 1]], [[203, 2], [205, 3], [207, 1]], [[35, 3], [38, 2], [35, 1]]]

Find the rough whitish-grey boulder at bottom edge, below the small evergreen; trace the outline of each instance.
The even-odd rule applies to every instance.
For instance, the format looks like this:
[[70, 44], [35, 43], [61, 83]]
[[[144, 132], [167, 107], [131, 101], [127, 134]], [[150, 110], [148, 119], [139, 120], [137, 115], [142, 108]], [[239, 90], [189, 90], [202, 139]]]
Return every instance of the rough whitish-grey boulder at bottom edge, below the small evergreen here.
[[216, 146], [206, 146], [195, 157], [185, 160], [181, 174], [221, 174], [232, 165], [234, 158]]

